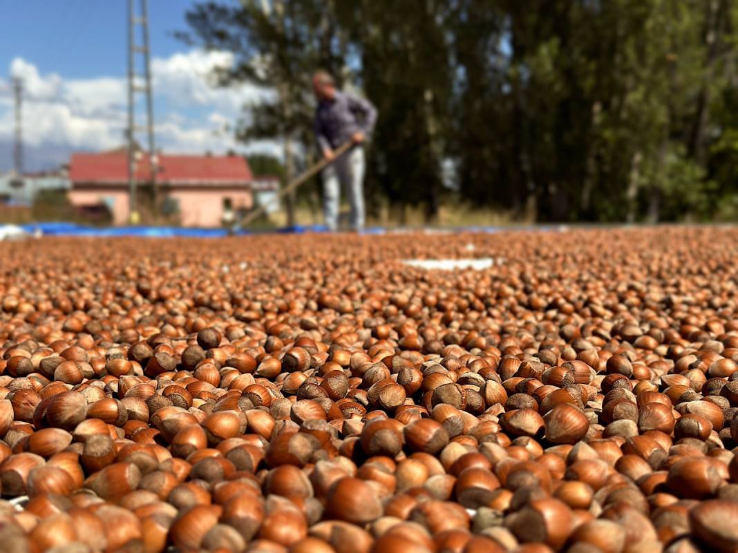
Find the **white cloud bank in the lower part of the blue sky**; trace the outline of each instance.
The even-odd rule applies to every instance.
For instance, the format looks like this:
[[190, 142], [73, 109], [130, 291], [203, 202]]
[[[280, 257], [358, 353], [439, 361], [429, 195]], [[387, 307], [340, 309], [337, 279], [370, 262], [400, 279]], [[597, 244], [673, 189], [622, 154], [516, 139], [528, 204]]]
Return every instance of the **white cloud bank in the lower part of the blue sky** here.
[[[182, 153], [277, 150], [274, 142], [244, 148], [233, 139], [232, 125], [241, 117], [244, 105], [269, 100], [272, 92], [252, 85], [213, 86], [213, 69], [230, 63], [232, 56], [225, 52], [201, 50], [151, 60], [157, 147]], [[64, 79], [58, 74], [40, 74], [33, 63], [22, 58], [12, 61], [10, 74], [24, 81], [24, 141], [28, 145], [106, 150], [123, 144], [127, 125], [125, 77]], [[12, 94], [10, 80], [0, 80], [0, 142], [12, 139]], [[144, 105], [137, 103], [139, 122], [144, 120]]]

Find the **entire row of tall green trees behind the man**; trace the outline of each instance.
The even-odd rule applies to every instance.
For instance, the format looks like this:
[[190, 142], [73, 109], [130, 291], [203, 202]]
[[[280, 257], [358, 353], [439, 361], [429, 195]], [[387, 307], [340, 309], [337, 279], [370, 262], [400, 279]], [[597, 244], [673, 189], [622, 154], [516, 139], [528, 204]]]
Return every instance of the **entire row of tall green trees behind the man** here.
[[243, 0], [196, 4], [196, 44], [233, 52], [221, 83], [275, 91], [238, 125], [314, 155], [308, 79], [325, 67], [379, 108], [368, 204], [449, 191], [538, 220], [710, 218], [738, 195], [730, 0]]

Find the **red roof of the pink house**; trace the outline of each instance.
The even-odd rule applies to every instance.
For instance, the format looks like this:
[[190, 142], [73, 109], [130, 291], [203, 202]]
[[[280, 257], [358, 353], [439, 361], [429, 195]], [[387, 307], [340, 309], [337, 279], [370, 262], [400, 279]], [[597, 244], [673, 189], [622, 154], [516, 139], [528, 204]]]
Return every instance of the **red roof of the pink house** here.
[[[137, 161], [138, 182], [151, 178], [148, 156]], [[156, 181], [162, 184], [218, 185], [249, 184], [253, 179], [249, 165], [241, 156], [170, 156], [159, 155]], [[75, 153], [69, 162], [69, 180], [74, 184], [128, 183], [128, 155], [111, 153]]]

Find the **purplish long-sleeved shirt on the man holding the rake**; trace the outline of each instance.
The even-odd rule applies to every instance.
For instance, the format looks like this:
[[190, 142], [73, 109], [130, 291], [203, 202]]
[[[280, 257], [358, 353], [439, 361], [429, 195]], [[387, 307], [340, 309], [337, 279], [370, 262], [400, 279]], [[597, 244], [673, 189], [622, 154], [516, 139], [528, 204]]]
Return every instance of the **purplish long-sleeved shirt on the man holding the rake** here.
[[321, 100], [315, 109], [314, 130], [321, 150], [337, 148], [356, 132], [368, 135], [376, 123], [376, 108], [363, 98], [336, 91], [333, 100]]

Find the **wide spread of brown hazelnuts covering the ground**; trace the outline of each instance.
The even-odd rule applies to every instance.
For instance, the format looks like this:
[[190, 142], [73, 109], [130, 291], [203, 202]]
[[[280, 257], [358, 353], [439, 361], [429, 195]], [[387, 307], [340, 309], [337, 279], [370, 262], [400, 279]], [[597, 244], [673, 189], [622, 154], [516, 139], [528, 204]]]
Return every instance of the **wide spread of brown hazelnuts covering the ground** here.
[[735, 229], [0, 256], [2, 551], [738, 551]]

